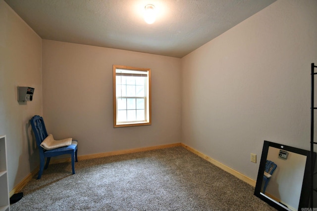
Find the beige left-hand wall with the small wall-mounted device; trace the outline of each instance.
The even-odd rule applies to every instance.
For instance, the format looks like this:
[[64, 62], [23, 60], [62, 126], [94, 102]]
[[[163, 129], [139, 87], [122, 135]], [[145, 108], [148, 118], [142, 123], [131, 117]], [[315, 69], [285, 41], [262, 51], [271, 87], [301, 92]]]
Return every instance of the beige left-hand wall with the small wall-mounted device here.
[[[17, 86], [35, 88], [17, 101]], [[29, 120], [42, 115], [42, 39], [0, 0], [0, 135], [6, 135], [9, 190], [38, 166]]]

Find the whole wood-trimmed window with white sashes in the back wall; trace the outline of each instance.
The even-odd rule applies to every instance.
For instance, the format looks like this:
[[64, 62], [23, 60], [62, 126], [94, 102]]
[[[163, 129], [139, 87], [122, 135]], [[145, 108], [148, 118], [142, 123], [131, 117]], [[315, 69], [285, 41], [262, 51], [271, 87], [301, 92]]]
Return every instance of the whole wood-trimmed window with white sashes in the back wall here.
[[113, 127], [151, 125], [151, 69], [113, 65]]

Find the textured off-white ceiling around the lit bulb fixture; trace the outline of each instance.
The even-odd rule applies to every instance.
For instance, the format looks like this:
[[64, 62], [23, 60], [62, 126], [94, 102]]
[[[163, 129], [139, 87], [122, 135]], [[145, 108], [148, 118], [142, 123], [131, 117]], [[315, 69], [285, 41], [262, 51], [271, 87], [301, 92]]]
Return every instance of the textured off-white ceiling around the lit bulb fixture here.
[[[181, 58], [275, 0], [4, 0], [42, 38]], [[142, 14], [156, 6], [156, 22]]]

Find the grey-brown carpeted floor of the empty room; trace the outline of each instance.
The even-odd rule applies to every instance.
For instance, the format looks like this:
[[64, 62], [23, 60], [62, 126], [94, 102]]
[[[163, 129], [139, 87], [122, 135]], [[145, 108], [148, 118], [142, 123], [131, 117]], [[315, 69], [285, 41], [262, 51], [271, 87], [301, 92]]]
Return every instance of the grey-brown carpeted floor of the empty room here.
[[254, 188], [183, 147], [52, 164], [11, 211], [273, 211]]

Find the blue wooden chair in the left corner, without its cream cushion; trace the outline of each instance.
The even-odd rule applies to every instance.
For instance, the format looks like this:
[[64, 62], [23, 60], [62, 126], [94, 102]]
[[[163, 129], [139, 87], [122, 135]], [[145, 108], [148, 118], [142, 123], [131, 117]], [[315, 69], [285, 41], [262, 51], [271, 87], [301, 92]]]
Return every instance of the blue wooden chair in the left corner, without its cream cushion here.
[[[71, 167], [73, 174], [75, 174], [75, 163], [74, 161], [78, 162], [77, 160], [77, 140], [73, 140], [72, 144], [69, 146], [59, 147], [56, 149], [46, 150], [41, 147], [42, 141], [48, 137], [48, 132], [46, 130], [43, 117], [40, 117], [38, 115], [32, 117], [31, 119], [31, 126], [35, 135], [36, 144], [38, 145], [39, 151], [40, 151], [40, 170], [38, 179], [41, 178], [43, 170], [47, 169], [51, 160], [51, 157], [64, 155], [64, 154], [70, 154], [71, 156]], [[46, 165], [44, 167], [46, 159]]]

